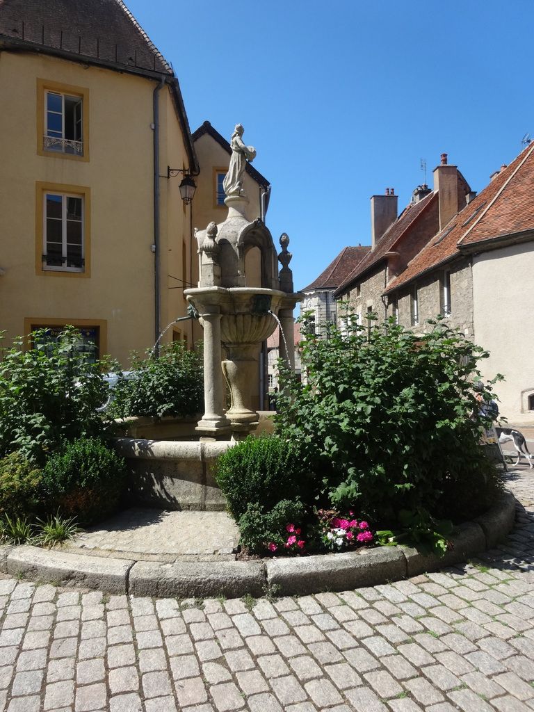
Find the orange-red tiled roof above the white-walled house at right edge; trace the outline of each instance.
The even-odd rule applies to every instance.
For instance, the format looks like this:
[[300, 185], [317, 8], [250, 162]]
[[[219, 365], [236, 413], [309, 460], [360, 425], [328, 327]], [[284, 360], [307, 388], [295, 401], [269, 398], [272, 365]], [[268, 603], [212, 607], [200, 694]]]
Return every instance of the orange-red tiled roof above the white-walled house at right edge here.
[[387, 287], [391, 292], [442, 263], [463, 248], [534, 229], [534, 143], [457, 213]]

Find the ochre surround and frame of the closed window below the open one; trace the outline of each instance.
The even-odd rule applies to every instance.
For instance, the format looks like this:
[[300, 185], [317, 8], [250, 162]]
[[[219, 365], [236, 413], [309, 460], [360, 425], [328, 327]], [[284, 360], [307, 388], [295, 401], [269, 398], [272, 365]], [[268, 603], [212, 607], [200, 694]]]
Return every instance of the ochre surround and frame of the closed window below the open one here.
[[[46, 254], [46, 195], [81, 198], [82, 216], [82, 258], [83, 267], [48, 266]], [[66, 226], [63, 226], [62, 202], [62, 246]], [[36, 274], [62, 277], [90, 277], [90, 188], [85, 186], [65, 185], [61, 183], [36, 182]]]

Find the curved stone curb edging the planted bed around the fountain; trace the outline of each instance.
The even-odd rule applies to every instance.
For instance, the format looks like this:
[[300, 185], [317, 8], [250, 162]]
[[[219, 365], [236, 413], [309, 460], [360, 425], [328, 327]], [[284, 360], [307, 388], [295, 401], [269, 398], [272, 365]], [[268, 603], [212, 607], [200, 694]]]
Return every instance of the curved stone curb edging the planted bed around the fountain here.
[[494, 548], [513, 528], [515, 503], [515, 497], [506, 493], [485, 514], [456, 527], [452, 548], [443, 557], [409, 547], [377, 547], [263, 561], [169, 564], [8, 545], [0, 547], [0, 571], [55, 585], [153, 597], [239, 598], [345, 591], [436, 571]]

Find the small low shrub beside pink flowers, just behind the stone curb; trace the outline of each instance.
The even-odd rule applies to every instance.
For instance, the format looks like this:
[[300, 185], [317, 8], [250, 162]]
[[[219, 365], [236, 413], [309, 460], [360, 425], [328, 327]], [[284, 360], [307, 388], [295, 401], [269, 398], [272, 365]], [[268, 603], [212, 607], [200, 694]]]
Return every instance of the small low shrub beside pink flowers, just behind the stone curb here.
[[265, 553], [268, 544], [283, 547], [288, 536], [286, 525], [300, 523], [303, 516], [304, 506], [298, 499], [282, 500], [271, 509], [251, 503], [239, 518], [239, 543], [251, 553]]

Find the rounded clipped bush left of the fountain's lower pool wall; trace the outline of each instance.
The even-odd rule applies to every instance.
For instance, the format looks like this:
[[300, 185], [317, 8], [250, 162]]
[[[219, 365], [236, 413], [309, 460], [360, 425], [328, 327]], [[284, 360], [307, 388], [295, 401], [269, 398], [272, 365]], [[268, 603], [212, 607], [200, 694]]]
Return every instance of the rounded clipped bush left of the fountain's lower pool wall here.
[[49, 511], [93, 522], [114, 511], [125, 493], [125, 461], [98, 438], [67, 442], [46, 462], [43, 488]]

